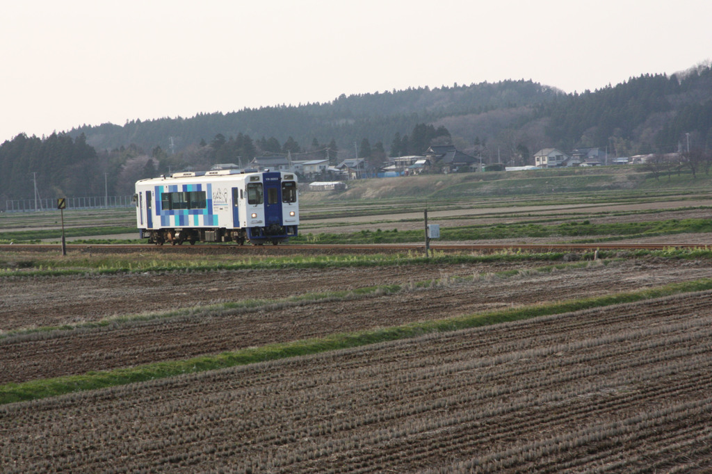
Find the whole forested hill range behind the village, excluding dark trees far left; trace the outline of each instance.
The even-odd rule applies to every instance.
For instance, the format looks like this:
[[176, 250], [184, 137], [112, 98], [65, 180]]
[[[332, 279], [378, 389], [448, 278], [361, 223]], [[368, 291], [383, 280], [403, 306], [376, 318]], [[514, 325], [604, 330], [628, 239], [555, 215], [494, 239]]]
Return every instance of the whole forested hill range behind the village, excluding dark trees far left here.
[[355, 142], [367, 139], [389, 152], [397, 134], [407, 135], [419, 123], [446, 127], [465, 151], [481, 139], [489, 149], [511, 155], [517, 148], [535, 152], [543, 147], [609, 147], [619, 155], [671, 152], [682, 137], [692, 137], [698, 146], [712, 139], [712, 72], [709, 65], [700, 65], [572, 94], [531, 80], [409, 88], [341, 95], [323, 104], [85, 126], [70, 136], [83, 133], [98, 150], [135, 144], [179, 152], [221, 134], [275, 138], [281, 144], [293, 139], [303, 150], [330, 142], [353, 149]]

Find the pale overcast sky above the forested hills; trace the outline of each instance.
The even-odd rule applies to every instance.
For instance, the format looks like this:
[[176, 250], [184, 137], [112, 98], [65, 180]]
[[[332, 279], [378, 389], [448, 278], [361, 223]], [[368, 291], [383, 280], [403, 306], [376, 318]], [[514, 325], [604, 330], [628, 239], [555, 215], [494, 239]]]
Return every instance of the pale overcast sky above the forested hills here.
[[708, 61], [711, 19], [710, 0], [4, 2], [0, 142], [408, 87], [595, 90]]

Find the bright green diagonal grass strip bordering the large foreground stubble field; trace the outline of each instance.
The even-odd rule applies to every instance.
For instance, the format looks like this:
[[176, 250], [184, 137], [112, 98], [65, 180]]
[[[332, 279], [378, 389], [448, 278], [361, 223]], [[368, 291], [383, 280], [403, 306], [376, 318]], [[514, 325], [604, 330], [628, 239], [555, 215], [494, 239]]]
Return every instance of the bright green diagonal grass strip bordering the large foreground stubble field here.
[[179, 361], [157, 362], [127, 369], [89, 372], [83, 375], [61, 376], [53, 379], [38, 379], [20, 384], [11, 383], [0, 386], [0, 404], [43, 399], [75, 391], [95, 390], [110, 386], [130, 384], [132, 382], [162, 379], [164, 377], [177, 376], [180, 374], [317, 354], [319, 352], [346, 349], [348, 347], [358, 347], [397, 339], [408, 339], [432, 332], [462, 330], [470, 327], [498, 324], [500, 322], [526, 320], [543, 315], [556, 315], [594, 307], [637, 302], [656, 297], [710, 289], [712, 289], [712, 278], [703, 278], [701, 280], [673, 283], [659, 288], [636, 292], [616, 293], [614, 295], [592, 297], [582, 300], [555, 302], [549, 305], [530, 305], [510, 310], [480, 312], [468, 316], [414, 322], [408, 325], [383, 329], [335, 334], [315, 339], [268, 344], [262, 347], [248, 347], [219, 355], [195, 357], [193, 359]]

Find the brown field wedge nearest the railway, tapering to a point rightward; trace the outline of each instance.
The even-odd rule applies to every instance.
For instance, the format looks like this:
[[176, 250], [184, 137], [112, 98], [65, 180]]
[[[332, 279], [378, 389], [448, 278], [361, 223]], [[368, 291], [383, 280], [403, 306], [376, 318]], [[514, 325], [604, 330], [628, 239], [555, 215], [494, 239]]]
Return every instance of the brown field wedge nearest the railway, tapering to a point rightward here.
[[57, 326], [216, 302], [354, 290], [384, 283], [405, 285], [446, 275], [541, 265], [504, 262], [0, 278], [0, 330]]

